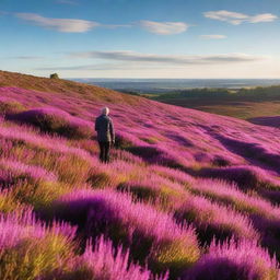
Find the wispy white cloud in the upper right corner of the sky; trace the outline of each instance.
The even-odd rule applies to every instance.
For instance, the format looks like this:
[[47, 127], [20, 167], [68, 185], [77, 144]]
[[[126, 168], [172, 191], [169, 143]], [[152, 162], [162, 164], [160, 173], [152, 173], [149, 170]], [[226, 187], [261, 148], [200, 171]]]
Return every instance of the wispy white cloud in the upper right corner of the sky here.
[[209, 12], [205, 12], [203, 15], [208, 19], [229, 22], [233, 25], [240, 25], [245, 22], [248, 22], [248, 23], [272, 22], [278, 19], [277, 15], [271, 13], [248, 15], [248, 14], [231, 12], [226, 10], [209, 11]]

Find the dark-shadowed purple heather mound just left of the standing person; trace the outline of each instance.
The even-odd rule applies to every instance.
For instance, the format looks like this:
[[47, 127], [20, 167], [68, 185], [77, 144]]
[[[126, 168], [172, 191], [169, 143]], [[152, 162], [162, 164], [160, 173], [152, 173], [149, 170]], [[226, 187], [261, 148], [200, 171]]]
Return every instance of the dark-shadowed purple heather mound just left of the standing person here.
[[72, 139], [91, 138], [93, 135], [93, 124], [54, 107], [25, 110], [11, 116], [10, 119], [36, 126], [44, 132]]

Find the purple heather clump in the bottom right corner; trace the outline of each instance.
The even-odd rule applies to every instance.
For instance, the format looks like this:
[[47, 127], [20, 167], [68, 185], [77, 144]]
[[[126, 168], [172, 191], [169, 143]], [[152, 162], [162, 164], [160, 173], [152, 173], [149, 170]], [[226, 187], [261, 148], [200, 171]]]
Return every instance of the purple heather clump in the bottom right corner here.
[[183, 280], [278, 280], [278, 262], [254, 241], [210, 245]]

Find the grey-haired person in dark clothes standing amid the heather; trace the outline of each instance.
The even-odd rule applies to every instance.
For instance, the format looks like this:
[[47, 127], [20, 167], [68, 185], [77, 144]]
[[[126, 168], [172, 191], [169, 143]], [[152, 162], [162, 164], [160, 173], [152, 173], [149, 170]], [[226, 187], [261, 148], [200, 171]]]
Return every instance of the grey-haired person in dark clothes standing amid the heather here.
[[95, 120], [95, 131], [97, 132], [97, 141], [100, 144], [101, 162], [109, 162], [109, 149], [115, 143], [115, 131], [113, 120], [108, 116], [109, 108], [104, 107], [101, 115]]

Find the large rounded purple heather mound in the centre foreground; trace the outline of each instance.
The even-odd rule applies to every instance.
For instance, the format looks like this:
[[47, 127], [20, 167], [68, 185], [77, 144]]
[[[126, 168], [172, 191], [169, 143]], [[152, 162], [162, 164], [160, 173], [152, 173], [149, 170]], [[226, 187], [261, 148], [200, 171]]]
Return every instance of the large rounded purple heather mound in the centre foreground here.
[[190, 228], [175, 223], [172, 215], [151, 206], [132, 202], [112, 190], [83, 190], [67, 195], [54, 206], [58, 218], [85, 226], [89, 234], [106, 234], [129, 245], [141, 262], [148, 258], [154, 271], [171, 272], [189, 267], [199, 257], [196, 235]]

